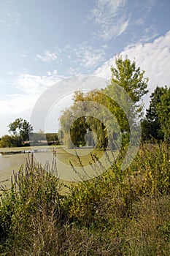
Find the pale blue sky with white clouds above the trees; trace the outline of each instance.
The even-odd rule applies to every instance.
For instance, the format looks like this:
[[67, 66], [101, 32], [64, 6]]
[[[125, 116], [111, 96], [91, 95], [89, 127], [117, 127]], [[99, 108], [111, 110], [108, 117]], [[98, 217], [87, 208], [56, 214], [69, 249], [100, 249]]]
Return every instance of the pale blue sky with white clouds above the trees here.
[[0, 35], [0, 137], [15, 118], [29, 121], [56, 82], [109, 80], [118, 53], [150, 79], [145, 108], [156, 86], [170, 84], [169, 0], [0, 0]]

